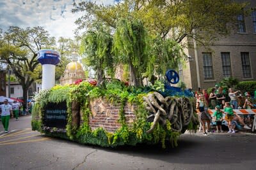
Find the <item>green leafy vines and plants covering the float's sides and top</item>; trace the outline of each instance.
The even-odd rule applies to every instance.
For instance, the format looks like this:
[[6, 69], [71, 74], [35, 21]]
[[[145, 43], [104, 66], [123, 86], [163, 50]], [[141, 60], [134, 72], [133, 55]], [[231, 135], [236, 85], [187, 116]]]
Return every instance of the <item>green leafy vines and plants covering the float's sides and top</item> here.
[[[126, 87], [121, 82], [107, 83], [104, 87], [94, 87], [88, 82], [81, 82], [79, 85], [56, 86], [51, 90], [40, 92], [35, 99], [36, 104], [33, 108], [33, 130], [44, 132], [50, 136], [58, 136], [68, 138], [79, 143], [90, 143], [100, 146], [118, 146], [118, 145], [136, 145], [137, 143], [156, 144], [162, 143], [165, 148], [166, 141], [170, 141], [172, 146], [177, 146], [177, 139], [180, 133], [172, 132], [170, 122], [167, 122], [165, 127], [157, 125], [152, 133], [146, 131], [150, 128], [150, 122], [147, 122], [148, 111], [143, 103], [143, 96], [146, 96], [148, 89]], [[92, 131], [89, 125], [89, 117], [91, 111], [88, 107], [90, 99], [102, 97], [109, 103], [120, 104], [118, 113], [118, 122], [121, 127], [115, 132], [107, 132], [102, 127]], [[44, 118], [45, 104], [60, 103], [67, 101], [67, 127], [65, 133], [58, 132], [58, 129], [52, 129], [51, 132], [44, 129], [42, 120]], [[77, 101], [83, 113], [83, 124], [80, 127], [72, 126], [72, 101]], [[125, 104], [136, 104], [137, 108], [134, 111], [136, 120], [132, 125], [127, 125], [125, 122], [124, 107]], [[40, 119], [36, 119], [40, 117]], [[189, 124], [189, 129], [195, 129], [195, 125]]]

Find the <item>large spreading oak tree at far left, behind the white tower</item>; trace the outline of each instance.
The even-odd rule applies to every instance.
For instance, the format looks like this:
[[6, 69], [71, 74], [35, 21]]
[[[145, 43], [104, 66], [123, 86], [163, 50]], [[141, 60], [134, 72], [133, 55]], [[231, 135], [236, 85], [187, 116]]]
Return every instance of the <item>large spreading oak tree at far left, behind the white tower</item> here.
[[38, 50], [55, 45], [43, 27], [10, 27], [0, 36], [0, 59], [11, 67], [23, 90], [23, 107], [26, 108], [28, 89], [42, 78], [42, 69], [36, 57]]

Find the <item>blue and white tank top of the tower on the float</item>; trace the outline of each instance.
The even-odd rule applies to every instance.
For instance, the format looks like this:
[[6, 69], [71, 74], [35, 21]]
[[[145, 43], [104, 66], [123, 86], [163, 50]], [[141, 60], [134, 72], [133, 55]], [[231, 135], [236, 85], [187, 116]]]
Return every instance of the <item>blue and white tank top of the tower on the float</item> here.
[[55, 50], [39, 50], [37, 60], [41, 64], [52, 64], [56, 65], [60, 62], [60, 53]]

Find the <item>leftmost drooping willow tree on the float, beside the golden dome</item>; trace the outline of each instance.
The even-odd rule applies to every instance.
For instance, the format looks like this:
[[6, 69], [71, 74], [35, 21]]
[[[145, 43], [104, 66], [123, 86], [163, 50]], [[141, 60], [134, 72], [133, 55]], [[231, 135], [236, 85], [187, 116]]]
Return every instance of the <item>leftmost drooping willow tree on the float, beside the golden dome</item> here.
[[102, 83], [104, 72], [113, 73], [113, 57], [111, 55], [113, 38], [109, 27], [102, 24], [94, 24], [90, 31], [84, 34], [81, 41], [80, 52], [84, 57], [84, 63], [92, 66], [97, 74], [97, 85]]

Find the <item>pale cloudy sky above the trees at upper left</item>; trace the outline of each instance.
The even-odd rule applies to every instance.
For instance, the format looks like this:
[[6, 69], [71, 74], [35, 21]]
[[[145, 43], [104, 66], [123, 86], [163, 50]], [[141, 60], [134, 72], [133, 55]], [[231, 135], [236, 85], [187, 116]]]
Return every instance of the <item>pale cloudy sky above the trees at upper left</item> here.
[[[81, 0], [76, 0], [79, 2]], [[96, 0], [110, 4], [114, 0]], [[50, 36], [74, 38], [74, 24], [83, 13], [72, 13], [72, 0], [0, 0], [0, 28], [42, 26]]]

